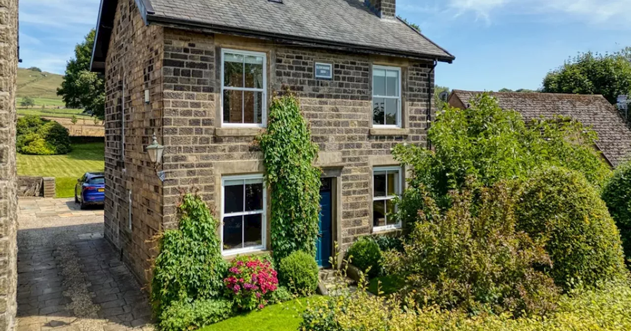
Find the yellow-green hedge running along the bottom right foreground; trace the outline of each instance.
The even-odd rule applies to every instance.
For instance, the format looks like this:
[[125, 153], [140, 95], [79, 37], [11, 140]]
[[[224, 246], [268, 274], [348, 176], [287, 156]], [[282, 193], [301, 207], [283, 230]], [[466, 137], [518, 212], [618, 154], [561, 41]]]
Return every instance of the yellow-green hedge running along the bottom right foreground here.
[[512, 318], [507, 314], [418, 310], [399, 301], [355, 294], [329, 297], [307, 306], [299, 330], [309, 331], [627, 331], [631, 330], [631, 284], [616, 282], [601, 290], [560, 298], [558, 311], [548, 316]]

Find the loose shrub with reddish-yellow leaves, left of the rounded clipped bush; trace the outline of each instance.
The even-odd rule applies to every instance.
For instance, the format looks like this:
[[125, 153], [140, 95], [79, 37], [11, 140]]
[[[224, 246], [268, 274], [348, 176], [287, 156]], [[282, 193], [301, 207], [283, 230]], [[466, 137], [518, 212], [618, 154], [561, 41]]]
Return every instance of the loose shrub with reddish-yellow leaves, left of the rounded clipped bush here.
[[417, 305], [468, 313], [545, 314], [558, 288], [538, 267], [550, 257], [526, 233], [516, 231], [512, 187], [452, 192], [442, 211], [428, 194], [404, 243], [384, 253], [387, 274], [400, 275], [401, 294]]

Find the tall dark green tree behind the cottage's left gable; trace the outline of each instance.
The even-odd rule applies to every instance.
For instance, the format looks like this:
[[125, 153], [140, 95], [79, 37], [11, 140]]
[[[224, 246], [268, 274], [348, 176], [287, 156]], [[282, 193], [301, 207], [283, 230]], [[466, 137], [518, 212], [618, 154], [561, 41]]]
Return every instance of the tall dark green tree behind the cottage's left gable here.
[[66, 74], [57, 95], [66, 107], [84, 108], [84, 112], [99, 119], [105, 117], [105, 82], [102, 74], [90, 72], [90, 60], [95, 30], [90, 30], [85, 41], [74, 48], [74, 58], [66, 64]]

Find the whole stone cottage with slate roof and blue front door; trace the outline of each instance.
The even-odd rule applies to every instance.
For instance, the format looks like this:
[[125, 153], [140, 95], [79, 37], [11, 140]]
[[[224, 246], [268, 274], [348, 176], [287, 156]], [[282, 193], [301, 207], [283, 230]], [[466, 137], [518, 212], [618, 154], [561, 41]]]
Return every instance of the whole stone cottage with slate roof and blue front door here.
[[[334, 243], [397, 231], [395, 144], [425, 144], [434, 69], [454, 57], [395, 0], [102, 0], [91, 69], [105, 74], [105, 236], [150, 277], [180, 192], [221, 219], [222, 253], [268, 250], [262, 154], [276, 91], [297, 93], [322, 168], [319, 263]], [[161, 163], [146, 147], [155, 132]]]

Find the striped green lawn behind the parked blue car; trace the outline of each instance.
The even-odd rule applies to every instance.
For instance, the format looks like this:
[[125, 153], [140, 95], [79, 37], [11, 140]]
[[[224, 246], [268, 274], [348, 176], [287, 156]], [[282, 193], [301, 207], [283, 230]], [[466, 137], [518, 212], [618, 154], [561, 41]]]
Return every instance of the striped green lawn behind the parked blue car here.
[[18, 175], [55, 177], [57, 197], [73, 197], [77, 178], [87, 171], [104, 170], [104, 148], [103, 142], [89, 142], [73, 144], [73, 151], [66, 155], [18, 153]]

